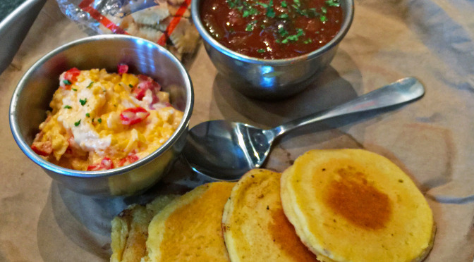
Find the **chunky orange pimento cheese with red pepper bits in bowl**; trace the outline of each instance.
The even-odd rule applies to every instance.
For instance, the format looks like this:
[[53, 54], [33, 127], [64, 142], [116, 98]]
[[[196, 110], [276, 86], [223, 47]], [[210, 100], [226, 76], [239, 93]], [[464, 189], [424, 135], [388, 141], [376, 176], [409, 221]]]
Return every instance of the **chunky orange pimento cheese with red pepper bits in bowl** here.
[[47, 161], [75, 170], [126, 166], [157, 150], [183, 112], [145, 75], [72, 68], [59, 77], [47, 119], [31, 148]]

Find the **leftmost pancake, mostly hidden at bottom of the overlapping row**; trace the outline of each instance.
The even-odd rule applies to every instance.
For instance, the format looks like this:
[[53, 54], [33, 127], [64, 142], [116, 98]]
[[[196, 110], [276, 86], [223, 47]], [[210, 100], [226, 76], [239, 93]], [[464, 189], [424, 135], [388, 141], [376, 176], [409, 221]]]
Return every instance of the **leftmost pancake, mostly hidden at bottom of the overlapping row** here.
[[148, 225], [153, 216], [175, 199], [176, 195], [157, 196], [147, 206], [133, 204], [112, 222], [111, 262], [139, 262], [145, 256]]

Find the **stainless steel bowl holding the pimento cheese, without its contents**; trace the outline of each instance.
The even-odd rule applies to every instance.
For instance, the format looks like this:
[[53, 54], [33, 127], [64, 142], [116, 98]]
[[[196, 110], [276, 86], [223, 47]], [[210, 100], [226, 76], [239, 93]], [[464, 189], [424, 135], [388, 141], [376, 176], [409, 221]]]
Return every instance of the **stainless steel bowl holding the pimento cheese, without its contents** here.
[[[184, 112], [171, 138], [149, 156], [111, 170], [71, 170], [35, 154], [30, 145], [39, 132], [39, 124], [46, 119], [49, 102], [59, 87], [59, 75], [73, 67], [80, 70], [106, 68], [116, 72], [119, 63], [126, 63], [130, 73], [154, 78], [170, 93], [171, 104]], [[183, 149], [193, 99], [193, 85], [186, 69], [162, 46], [127, 35], [99, 35], [54, 49], [23, 75], [11, 99], [10, 127], [23, 153], [69, 189], [96, 197], [132, 195], [154, 185]]]

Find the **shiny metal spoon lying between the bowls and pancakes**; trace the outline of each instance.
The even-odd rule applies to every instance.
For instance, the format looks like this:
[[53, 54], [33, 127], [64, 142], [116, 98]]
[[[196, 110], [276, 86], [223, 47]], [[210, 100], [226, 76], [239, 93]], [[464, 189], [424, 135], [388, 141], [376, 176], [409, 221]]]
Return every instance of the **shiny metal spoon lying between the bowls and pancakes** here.
[[212, 120], [191, 128], [183, 156], [195, 172], [215, 180], [238, 180], [260, 168], [274, 139], [284, 133], [328, 118], [405, 103], [423, 96], [425, 89], [406, 77], [326, 111], [292, 120], [270, 130], [244, 123]]

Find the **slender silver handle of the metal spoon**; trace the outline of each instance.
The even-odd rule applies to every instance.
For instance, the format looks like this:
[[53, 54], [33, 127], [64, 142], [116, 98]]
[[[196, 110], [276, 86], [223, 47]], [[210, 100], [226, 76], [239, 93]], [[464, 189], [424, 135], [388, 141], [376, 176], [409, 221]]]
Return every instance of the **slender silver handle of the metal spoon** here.
[[272, 132], [274, 138], [276, 138], [279, 135], [283, 135], [285, 132], [303, 125], [350, 113], [370, 111], [373, 109], [402, 104], [417, 99], [418, 97], [423, 96], [423, 94], [425, 94], [423, 85], [415, 77], [406, 77], [362, 96], [358, 96], [356, 99], [348, 101], [345, 104], [330, 108], [326, 111], [313, 113], [310, 116], [292, 120], [268, 131]]

